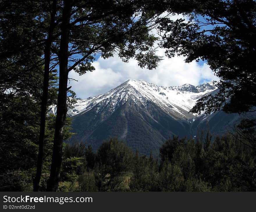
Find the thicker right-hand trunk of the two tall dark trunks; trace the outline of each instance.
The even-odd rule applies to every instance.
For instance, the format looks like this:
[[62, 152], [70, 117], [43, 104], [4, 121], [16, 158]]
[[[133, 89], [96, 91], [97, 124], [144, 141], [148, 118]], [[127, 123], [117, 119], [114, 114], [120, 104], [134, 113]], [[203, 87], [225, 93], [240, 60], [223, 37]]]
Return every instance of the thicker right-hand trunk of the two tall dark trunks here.
[[67, 80], [68, 80], [68, 43], [70, 36], [70, 14], [71, 3], [64, 1], [62, 22], [61, 22], [61, 42], [59, 52], [59, 89], [56, 114], [56, 125], [54, 132], [53, 152], [51, 159], [51, 172], [47, 182], [47, 191], [57, 191], [60, 178], [63, 133], [67, 114]]

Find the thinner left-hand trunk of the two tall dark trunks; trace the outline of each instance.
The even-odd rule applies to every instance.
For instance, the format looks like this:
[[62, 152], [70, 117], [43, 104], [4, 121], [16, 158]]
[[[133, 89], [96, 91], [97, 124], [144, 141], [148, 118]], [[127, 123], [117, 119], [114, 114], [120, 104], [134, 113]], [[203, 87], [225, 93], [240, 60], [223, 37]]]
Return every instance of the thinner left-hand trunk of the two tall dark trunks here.
[[53, 1], [51, 5], [51, 20], [49, 26], [49, 32], [45, 43], [44, 50], [44, 79], [43, 79], [43, 93], [40, 111], [40, 133], [39, 133], [39, 149], [38, 149], [38, 159], [35, 177], [33, 179], [33, 191], [38, 191], [39, 183], [42, 174], [42, 164], [44, 157], [44, 143], [45, 143], [45, 116], [47, 110], [47, 100], [48, 100], [48, 87], [49, 87], [49, 72], [50, 72], [50, 60], [51, 60], [51, 43], [53, 39], [53, 31], [55, 25], [55, 15], [56, 15], [56, 5], [57, 1]]

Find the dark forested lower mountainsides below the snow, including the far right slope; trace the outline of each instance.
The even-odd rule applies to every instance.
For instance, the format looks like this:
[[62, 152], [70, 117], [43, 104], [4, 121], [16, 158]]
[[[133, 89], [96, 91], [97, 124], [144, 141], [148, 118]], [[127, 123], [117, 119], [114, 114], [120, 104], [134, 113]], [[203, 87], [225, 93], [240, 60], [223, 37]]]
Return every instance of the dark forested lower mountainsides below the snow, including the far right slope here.
[[221, 135], [232, 131], [241, 119], [238, 114], [220, 111], [195, 121], [175, 120], [154, 103], [148, 104], [146, 109], [125, 103], [108, 117], [97, 115], [94, 109], [74, 116], [72, 132], [76, 134], [70, 141], [83, 141], [97, 149], [103, 140], [118, 137], [134, 151], [157, 156], [161, 144], [173, 135], [195, 139], [208, 128], [214, 135]]

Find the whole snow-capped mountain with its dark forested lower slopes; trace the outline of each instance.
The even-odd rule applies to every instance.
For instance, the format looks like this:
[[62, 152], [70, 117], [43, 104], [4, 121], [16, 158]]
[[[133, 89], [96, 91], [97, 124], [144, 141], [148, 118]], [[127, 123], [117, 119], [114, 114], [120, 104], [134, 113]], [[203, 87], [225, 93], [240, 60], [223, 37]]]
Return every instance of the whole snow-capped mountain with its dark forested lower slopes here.
[[141, 154], [156, 156], [162, 143], [173, 135], [195, 139], [207, 126], [212, 133], [221, 134], [237, 120], [237, 114], [221, 111], [200, 116], [188, 112], [198, 99], [217, 91], [214, 82], [163, 87], [128, 80], [105, 94], [79, 99], [68, 110], [76, 133], [72, 140], [86, 142], [96, 150], [103, 140], [118, 137]]

